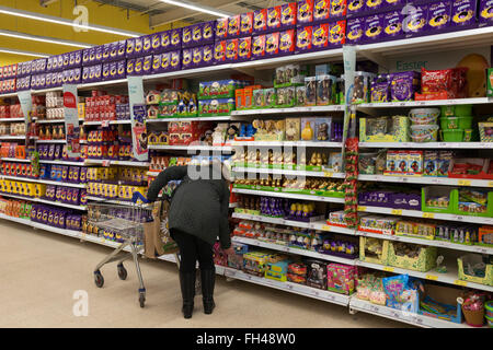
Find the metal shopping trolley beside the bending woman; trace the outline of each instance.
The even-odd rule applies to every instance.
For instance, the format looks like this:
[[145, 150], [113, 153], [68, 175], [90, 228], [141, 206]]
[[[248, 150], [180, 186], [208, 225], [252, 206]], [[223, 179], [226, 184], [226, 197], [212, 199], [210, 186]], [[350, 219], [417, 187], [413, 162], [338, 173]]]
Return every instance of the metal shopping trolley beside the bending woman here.
[[149, 207], [146, 198], [138, 192], [134, 195], [130, 206], [102, 201], [89, 206], [88, 209], [88, 223], [96, 226], [100, 235], [121, 243], [115, 250], [94, 268], [95, 285], [99, 288], [103, 287], [104, 278], [101, 273], [101, 268], [113, 261], [117, 261], [119, 279], [125, 280], [127, 270], [123, 262], [131, 257], [139, 279], [140, 307], [144, 307], [146, 303], [146, 288], [138, 256], [144, 249], [144, 224], [150, 221], [152, 221], [152, 209]]

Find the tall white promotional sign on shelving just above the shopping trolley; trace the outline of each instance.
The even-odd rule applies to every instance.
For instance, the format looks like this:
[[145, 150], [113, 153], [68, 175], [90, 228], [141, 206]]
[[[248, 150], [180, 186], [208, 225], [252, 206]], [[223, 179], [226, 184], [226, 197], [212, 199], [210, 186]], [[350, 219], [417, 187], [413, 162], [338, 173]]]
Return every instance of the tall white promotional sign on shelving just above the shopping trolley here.
[[146, 102], [144, 97], [142, 77], [128, 77], [128, 100], [130, 103], [131, 144], [134, 158], [137, 161], [148, 160], [146, 118]]

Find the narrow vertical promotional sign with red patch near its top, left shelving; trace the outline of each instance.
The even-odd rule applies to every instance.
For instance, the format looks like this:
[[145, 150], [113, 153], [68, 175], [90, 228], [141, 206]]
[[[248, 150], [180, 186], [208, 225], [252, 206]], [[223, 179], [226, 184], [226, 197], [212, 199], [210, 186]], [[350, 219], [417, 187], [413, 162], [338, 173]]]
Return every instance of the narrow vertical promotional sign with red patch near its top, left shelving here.
[[77, 85], [64, 85], [65, 133], [67, 154], [70, 158], [80, 156], [80, 125], [77, 101]]

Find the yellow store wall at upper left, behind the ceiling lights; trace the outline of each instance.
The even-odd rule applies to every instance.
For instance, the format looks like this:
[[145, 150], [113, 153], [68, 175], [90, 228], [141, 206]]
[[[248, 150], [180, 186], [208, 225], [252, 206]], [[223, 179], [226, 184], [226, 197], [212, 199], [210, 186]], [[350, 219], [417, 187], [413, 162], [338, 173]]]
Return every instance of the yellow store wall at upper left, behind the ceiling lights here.
[[[94, 1], [79, 1], [79, 4], [83, 4], [88, 8], [90, 24], [104, 25], [142, 34], [160, 32], [170, 28], [170, 25], [163, 25], [154, 28], [154, 31], [150, 31], [149, 16], [147, 14], [142, 15], [139, 12], [130, 11], [127, 18], [127, 11], [121, 8], [101, 5], [101, 3]], [[0, 5], [70, 20], [77, 18], [77, 15], [72, 13], [74, 5], [73, 0], [59, 0], [49, 4], [47, 8], [41, 7], [39, 0], [0, 0]], [[183, 23], [175, 23], [174, 26], [176, 25], [181, 26], [183, 25]], [[0, 30], [89, 43], [94, 45], [101, 45], [125, 38], [121, 35], [105, 34], [93, 31], [77, 33], [69, 26], [26, 20], [7, 14], [0, 14]], [[0, 47], [43, 52], [48, 55], [58, 55], [77, 49], [72, 46], [50, 45], [32, 40], [9, 38], [4, 36], [0, 36]], [[0, 66], [26, 61], [31, 59], [33, 59], [33, 57], [7, 55], [0, 52]]]

